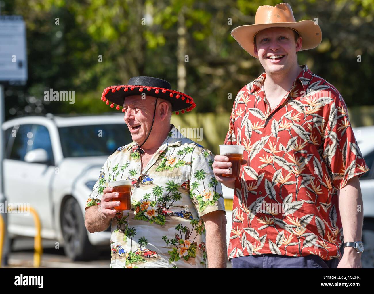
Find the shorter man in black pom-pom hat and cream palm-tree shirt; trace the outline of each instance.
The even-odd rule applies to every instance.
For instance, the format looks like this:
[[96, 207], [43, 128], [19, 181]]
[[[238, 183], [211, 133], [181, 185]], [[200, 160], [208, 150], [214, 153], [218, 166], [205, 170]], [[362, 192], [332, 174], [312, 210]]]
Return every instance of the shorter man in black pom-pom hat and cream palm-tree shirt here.
[[[134, 140], [107, 159], [86, 205], [89, 232], [111, 224], [110, 267], [226, 267], [226, 217], [214, 157], [170, 124], [172, 111], [192, 110], [193, 99], [164, 80], [135, 77], [105, 89], [102, 100], [117, 110], [123, 105]], [[116, 211], [118, 193], [108, 182], [124, 179], [134, 183], [131, 210]]]

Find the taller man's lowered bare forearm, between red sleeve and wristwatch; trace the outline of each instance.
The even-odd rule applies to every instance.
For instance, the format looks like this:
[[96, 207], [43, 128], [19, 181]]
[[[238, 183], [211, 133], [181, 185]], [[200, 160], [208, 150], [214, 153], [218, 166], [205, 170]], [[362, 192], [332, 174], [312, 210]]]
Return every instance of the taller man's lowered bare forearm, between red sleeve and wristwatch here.
[[357, 176], [338, 190], [338, 199], [344, 242], [361, 241], [364, 209]]

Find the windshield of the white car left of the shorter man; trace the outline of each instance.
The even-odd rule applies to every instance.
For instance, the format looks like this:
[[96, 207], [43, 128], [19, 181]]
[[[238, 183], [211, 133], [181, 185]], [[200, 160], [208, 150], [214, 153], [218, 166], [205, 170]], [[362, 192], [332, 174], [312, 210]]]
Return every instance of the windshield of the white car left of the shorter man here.
[[97, 124], [59, 127], [64, 157], [111, 155], [132, 142], [126, 124]]

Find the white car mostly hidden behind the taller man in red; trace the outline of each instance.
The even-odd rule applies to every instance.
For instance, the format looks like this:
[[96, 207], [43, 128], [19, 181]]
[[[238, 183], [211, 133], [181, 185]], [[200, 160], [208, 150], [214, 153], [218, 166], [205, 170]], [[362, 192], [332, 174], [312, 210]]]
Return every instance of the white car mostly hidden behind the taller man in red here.
[[[374, 268], [374, 126], [353, 128], [355, 137], [362, 156], [370, 171], [360, 177], [362, 200], [364, 203], [364, 226], [362, 229], [362, 242], [364, 243], [364, 253], [361, 261], [364, 268]], [[232, 228], [232, 200], [234, 189], [222, 185], [223, 196], [225, 198], [226, 218], [227, 218], [227, 244]], [[232, 209], [232, 208], [231, 208]]]

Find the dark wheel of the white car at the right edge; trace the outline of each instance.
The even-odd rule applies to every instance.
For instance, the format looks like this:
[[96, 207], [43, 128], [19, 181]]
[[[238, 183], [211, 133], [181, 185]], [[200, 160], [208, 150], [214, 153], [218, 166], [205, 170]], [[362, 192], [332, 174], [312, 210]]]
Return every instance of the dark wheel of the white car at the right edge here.
[[362, 267], [365, 269], [374, 268], [374, 220], [364, 220], [362, 227], [362, 243], [364, 252], [361, 256]]

